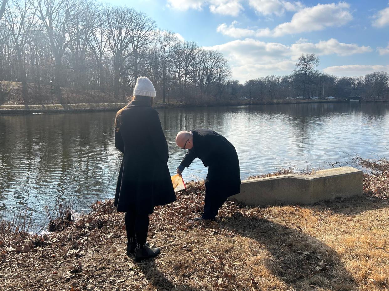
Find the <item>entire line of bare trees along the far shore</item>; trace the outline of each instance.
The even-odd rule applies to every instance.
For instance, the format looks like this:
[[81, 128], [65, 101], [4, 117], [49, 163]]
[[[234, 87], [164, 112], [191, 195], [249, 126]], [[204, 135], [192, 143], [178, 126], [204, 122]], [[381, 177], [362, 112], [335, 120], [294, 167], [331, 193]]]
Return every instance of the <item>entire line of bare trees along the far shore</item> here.
[[[186, 104], [241, 96], [280, 100], [321, 96], [323, 91], [335, 97], [380, 97], [387, 90], [385, 72], [338, 78], [316, 71], [319, 60], [313, 54], [301, 55], [299, 62], [289, 76], [239, 84], [231, 80], [230, 66], [220, 52], [158, 29], [153, 19], [135, 9], [95, 0], [0, 0], [0, 80], [21, 82], [26, 104], [31, 83], [38, 98], [41, 85], [53, 85], [57, 102], [65, 101], [60, 87], [98, 90], [123, 101], [143, 75], [164, 102]], [[0, 88], [0, 101], [4, 94]]]

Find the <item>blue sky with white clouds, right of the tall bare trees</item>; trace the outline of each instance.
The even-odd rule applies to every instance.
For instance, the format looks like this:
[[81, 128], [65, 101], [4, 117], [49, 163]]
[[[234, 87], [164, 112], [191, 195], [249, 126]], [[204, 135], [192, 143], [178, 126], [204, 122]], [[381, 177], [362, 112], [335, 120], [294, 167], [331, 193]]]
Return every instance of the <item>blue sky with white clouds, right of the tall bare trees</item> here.
[[388, 0], [111, 0], [230, 61], [233, 78], [290, 74], [301, 53], [338, 76], [389, 71]]

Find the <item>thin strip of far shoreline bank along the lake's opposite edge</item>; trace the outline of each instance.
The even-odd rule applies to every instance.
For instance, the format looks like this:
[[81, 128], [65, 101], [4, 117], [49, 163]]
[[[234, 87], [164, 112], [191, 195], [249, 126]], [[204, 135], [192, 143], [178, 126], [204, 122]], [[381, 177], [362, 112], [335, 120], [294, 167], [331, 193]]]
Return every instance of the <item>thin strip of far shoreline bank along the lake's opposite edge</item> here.
[[[212, 104], [205, 106], [175, 104], [175, 103], [156, 103], [155, 109], [165, 108], [195, 108], [195, 107], [239, 107], [239, 106], [263, 106], [263, 105], [286, 105], [286, 104], [314, 104], [314, 103], [344, 103], [344, 100], [298, 100], [291, 102], [272, 102], [249, 104], [242, 102], [240, 104]], [[365, 103], [365, 102], [361, 102]], [[367, 102], [366, 102], [367, 103]], [[92, 111], [117, 111], [128, 103], [74, 103], [74, 104], [15, 104], [1, 105], [0, 114], [33, 114], [33, 113], [77, 113]]]

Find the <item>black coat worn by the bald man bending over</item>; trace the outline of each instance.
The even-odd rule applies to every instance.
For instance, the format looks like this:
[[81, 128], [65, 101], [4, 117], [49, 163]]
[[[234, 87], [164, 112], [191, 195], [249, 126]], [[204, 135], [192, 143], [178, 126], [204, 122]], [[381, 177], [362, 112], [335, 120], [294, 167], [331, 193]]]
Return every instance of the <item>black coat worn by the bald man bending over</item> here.
[[239, 159], [235, 147], [223, 135], [213, 130], [191, 130], [193, 148], [189, 149], [181, 165], [189, 167], [195, 158], [208, 167], [205, 178], [207, 194], [225, 199], [240, 193]]

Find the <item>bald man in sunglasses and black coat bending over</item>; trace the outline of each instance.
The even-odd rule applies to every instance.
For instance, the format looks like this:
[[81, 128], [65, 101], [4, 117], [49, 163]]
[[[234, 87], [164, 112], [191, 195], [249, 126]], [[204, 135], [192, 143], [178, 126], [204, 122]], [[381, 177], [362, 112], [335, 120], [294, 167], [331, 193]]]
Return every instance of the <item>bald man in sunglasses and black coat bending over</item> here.
[[209, 129], [179, 132], [175, 143], [181, 149], [188, 149], [177, 173], [182, 173], [195, 158], [201, 159], [208, 167], [204, 212], [195, 220], [215, 220], [227, 197], [240, 193], [239, 160], [235, 147], [223, 135]]

